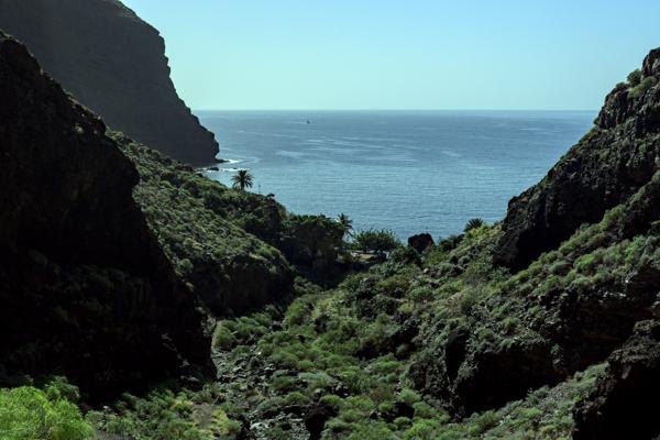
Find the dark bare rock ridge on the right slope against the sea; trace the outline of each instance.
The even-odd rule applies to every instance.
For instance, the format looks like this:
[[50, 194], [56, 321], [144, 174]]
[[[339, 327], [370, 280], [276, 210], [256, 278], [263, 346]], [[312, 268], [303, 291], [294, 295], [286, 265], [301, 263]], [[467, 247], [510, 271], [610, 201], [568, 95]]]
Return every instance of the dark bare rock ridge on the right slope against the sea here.
[[649, 182], [660, 162], [659, 58], [652, 51], [641, 82], [618, 85], [596, 127], [538, 185], [509, 201], [497, 263], [527, 267]]

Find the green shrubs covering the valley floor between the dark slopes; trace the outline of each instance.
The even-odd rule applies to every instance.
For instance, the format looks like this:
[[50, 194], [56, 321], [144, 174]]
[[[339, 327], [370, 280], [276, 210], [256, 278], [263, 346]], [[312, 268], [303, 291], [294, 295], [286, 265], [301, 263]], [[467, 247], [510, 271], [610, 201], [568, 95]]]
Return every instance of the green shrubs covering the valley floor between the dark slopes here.
[[[573, 405], [602, 366], [462, 421], [440, 400], [416, 391], [409, 377], [438, 320], [450, 328], [474, 326], [474, 310], [496, 295], [506, 276], [485, 255], [497, 233], [497, 227], [472, 229], [424, 258], [400, 249], [332, 290], [299, 278], [288, 308], [267, 307], [217, 324], [218, 383], [197, 393], [131, 397], [100, 426], [148, 436], [152, 428], [138, 421], [165, 405], [170, 416], [162, 424], [175, 417], [201, 432], [190, 438], [212, 438], [204, 437], [210, 428], [200, 421], [200, 411], [211, 405], [226, 424], [233, 420], [233, 435], [257, 424], [264, 439], [306, 438], [310, 428], [323, 439], [570, 438]], [[505, 326], [513, 334], [516, 318], [508, 318]], [[315, 417], [322, 421], [315, 425]]]

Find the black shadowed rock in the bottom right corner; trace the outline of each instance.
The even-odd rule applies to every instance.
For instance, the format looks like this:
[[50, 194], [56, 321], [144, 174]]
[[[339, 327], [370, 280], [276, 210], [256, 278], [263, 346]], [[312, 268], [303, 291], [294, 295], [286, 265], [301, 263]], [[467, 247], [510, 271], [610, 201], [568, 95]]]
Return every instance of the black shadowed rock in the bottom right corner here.
[[639, 322], [607, 360], [608, 369], [575, 410], [573, 438], [651, 439], [660, 435], [660, 322]]

